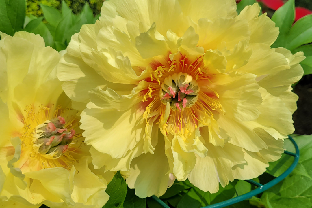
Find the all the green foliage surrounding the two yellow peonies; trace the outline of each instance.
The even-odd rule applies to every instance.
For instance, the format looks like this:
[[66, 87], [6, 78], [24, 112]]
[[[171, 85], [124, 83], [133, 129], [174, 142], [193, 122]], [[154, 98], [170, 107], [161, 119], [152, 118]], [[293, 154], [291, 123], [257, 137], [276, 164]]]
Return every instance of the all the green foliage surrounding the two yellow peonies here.
[[[103, 0], [0, 0], [0, 31], [14, 35], [16, 31], [28, 31], [41, 35], [46, 46], [61, 51], [66, 49], [71, 36], [84, 24], [95, 23]], [[240, 12], [255, 0], [242, 0], [237, 5]], [[280, 35], [273, 48], [285, 47], [292, 53], [304, 51], [306, 59], [301, 62], [305, 75], [312, 74], [312, 15], [294, 23], [296, 6], [312, 9], [310, 0], [289, 0], [272, 16], [280, 27]], [[312, 136], [294, 135], [300, 148], [300, 160], [295, 170], [276, 186], [253, 198], [231, 205], [231, 208], [310, 208], [312, 206]], [[285, 149], [294, 152], [290, 141]], [[272, 162], [266, 173], [254, 180], [264, 184], [279, 176], [292, 163], [293, 158], [284, 155]], [[174, 208], [199, 208], [247, 193], [256, 187], [245, 181], [234, 180], [219, 192], [210, 194], [194, 187], [188, 180], [175, 181], [161, 196], [168, 206]], [[160, 208], [151, 197], [140, 199], [129, 189], [119, 172], [108, 184], [110, 195], [104, 208]], [[46, 207], [45, 205], [42, 208]]]

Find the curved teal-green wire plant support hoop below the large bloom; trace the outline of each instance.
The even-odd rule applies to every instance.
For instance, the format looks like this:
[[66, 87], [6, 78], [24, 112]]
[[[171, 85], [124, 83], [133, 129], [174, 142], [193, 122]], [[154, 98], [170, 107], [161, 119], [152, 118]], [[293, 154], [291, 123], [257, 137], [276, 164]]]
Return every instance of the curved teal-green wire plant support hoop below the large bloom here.
[[[276, 185], [281, 180], [286, 178], [286, 176], [288, 176], [291, 173], [291, 171], [293, 171], [293, 169], [296, 167], [296, 165], [298, 164], [298, 161], [299, 161], [299, 148], [298, 148], [296, 142], [294, 141], [294, 139], [291, 138], [291, 136], [288, 136], [288, 138], [290, 139], [290, 141], [295, 146], [296, 153], [288, 152], [286, 150], [284, 151], [285, 154], [291, 155], [291, 156], [295, 157], [293, 163], [290, 165], [290, 167], [284, 173], [280, 174], [279, 177], [274, 178], [273, 180], [271, 180], [270, 182], [268, 182], [268, 183], [266, 183], [264, 185], [254, 181], [254, 180], [246, 180], [246, 182], [251, 183], [251, 184], [257, 186], [258, 188], [252, 190], [251, 192], [243, 194], [241, 196], [236, 196], [236, 197], [234, 197], [232, 199], [228, 199], [226, 201], [221, 201], [221, 202], [218, 202], [218, 203], [215, 203], [215, 204], [212, 204], [212, 205], [203, 206], [202, 208], [222, 208], [222, 207], [225, 207], [225, 206], [229, 206], [229, 205], [235, 204], [237, 202], [243, 201], [245, 199], [249, 199], [252, 196], [255, 196], [257, 194], [260, 194], [261, 192], [266, 191], [267, 189], [271, 188], [272, 186]], [[154, 196], [152, 196], [152, 198], [155, 201], [157, 201], [160, 204], [160, 206], [162, 206], [164, 208], [170, 208], [165, 202], [163, 202], [157, 196], [154, 195]]]

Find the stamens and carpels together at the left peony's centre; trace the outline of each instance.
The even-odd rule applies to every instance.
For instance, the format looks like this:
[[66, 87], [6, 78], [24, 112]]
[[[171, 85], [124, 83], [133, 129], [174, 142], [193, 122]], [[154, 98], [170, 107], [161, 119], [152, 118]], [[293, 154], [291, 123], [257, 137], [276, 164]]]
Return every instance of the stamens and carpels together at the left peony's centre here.
[[22, 171], [53, 167], [71, 169], [76, 161], [72, 153], [80, 151], [82, 136], [74, 130], [79, 125], [76, 111], [61, 109], [58, 106], [51, 110], [42, 105], [35, 111], [33, 107], [26, 107], [28, 116], [22, 119], [24, 133], [20, 136], [21, 159], [15, 163], [16, 167]]

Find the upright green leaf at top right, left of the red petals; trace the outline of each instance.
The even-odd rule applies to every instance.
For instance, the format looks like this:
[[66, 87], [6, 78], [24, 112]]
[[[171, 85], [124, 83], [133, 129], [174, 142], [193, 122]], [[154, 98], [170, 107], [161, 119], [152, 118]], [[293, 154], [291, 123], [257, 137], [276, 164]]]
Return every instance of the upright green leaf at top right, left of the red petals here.
[[279, 27], [280, 34], [287, 33], [295, 21], [295, 1], [289, 0], [286, 2], [274, 12], [271, 20]]

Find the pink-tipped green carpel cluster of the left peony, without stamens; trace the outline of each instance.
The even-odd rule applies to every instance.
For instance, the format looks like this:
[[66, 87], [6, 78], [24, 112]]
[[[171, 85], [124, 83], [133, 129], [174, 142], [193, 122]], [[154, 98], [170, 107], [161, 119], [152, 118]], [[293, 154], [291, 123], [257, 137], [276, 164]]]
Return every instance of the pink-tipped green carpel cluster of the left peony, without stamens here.
[[36, 127], [34, 135], [33, 149], [41, 156], [57, 159], [68, 150], [68, 145], [72, 142], [75, 130], [68, 131], [64, 124], [65, 119], [61, 116], [47, 120]]

